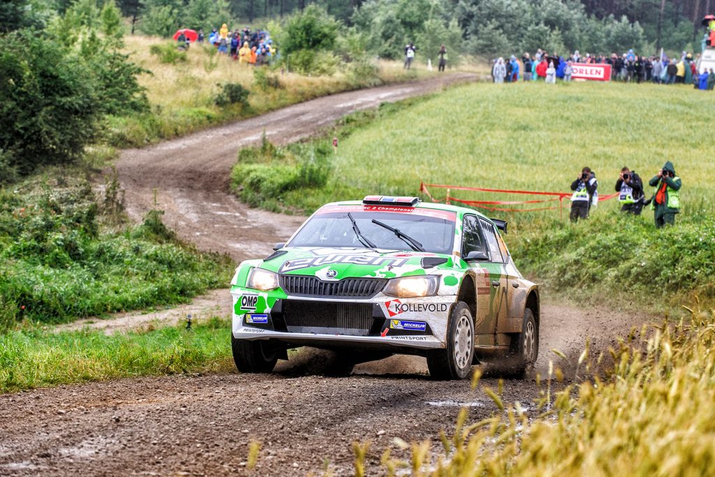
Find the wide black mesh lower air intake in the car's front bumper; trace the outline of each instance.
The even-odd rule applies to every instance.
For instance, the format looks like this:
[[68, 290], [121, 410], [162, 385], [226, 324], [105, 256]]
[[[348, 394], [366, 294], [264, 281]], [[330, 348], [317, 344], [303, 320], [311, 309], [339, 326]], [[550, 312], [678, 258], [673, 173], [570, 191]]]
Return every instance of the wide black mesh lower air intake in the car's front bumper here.
[[292, 333], [367, 336], [375, 322], [372, 303], [285, 300], [282, 316]]

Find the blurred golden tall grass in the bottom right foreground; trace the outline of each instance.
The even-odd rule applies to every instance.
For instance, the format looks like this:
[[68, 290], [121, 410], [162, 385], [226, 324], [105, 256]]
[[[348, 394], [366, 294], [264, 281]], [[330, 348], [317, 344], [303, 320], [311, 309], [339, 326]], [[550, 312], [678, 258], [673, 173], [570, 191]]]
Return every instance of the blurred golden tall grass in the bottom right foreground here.
[[[551, 393], [541, 381], [536, 408], [503, 403], [499, 390], [484, 386], [500, 409], [472, 423], [462, 410], [443, 449], [413, 444], [413, 460], [383, 454], [388, 475], [400, 467], [420, 476], [700, 476], [715, 466], [715, 311], [694, 310], [690, 320], [633, 333], [611, 350], [611, 375]], [[647, 337], [647, 338], [646, 338]], [[600, 355], [582, 355], [583, 372]], [[546, 379], [548, 378], [548, 380]], [[435, 460], [431, 456], [438, 455]], [[360, 475], [358, 473], [358, 475]]]

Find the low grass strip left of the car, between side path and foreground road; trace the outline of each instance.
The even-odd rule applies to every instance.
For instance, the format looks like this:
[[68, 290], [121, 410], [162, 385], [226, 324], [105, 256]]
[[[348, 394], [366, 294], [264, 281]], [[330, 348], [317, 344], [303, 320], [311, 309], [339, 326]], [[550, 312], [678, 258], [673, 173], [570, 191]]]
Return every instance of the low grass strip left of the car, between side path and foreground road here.
[[156, 330], [0, 334], [0, 393], [140, 375], [217, 372], [233, 367], [228, 320]]

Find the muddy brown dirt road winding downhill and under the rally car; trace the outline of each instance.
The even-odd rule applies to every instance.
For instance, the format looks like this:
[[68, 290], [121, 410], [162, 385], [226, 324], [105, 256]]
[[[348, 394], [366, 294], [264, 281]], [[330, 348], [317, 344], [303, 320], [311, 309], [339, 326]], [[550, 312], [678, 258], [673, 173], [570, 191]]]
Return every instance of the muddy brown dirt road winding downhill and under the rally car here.
[[[262, 117], [209, 129], [147, 149], [129, 150], [117, 164], [133, 217], [152, 207], [199, 247], [230, 253], [235, 260], [261, 256], [302, 220], [250, 210], [226, 193], [236, 149], [256, 142], [262, 130], [272, 141], [305, 137], [352, 109], [373, 107], [439, 89], [445, 77], [393, 87], [338, 94]], [[573, 378], [573, 363], [587, 336], [605, 349], [643, 316], [612, 310], [554, 305], [543, 299], [542, 373], [554, 360]], [[124, 315], [92, 326], [122, 329], [147, 320], [180, 320], [187, 313], [228, 313], [227, 290], [216, 290], [187, 307], [154, 315]], [[229, 330], [227, 330], [228, 339]], [[549, 351], [558, 348], [564, 361]], [[0, 395], [0, 475], [260, 475], [300, 476], [330, 468], [351, 475], [352, 441], [372, 441], [368, 475], [380, 455], [407, 457], [395, 438], [436, 440], [450, 432], [460, 406], [470, 420], [496, 408], [468, 381], [435, 382], [423, 358], [393, 357], [355, 368], [348, 378], [327, 378], [326, 353], [305, 351], [281, 362], [272, 375], [227, 372], [165, 376], [61, 386]], [[227, 363], [227, 369], [230, 369]], [[496, 388], [494, 378], [484, 383]], [[533, 380], [506, 380], [503, 399], [533, 409]], [[257, 468], [246, 468], [251, 441], [260, 441]]]

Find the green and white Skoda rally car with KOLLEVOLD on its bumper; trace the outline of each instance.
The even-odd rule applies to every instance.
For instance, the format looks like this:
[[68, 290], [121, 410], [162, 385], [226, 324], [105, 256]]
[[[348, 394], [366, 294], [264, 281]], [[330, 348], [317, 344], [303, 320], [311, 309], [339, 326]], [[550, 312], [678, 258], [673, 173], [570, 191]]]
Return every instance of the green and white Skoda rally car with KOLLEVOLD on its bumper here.
[[498, 229], [506, 222], [417, 197], [320, 207], [270, 256], [237, 268], [237, 368], [269, 373], [298, 346], [335, 350], [343, 371], [393, 353], [425, 356], [443, 379], [464, 378], [482, 358], [532, 367], [538, 287]]

